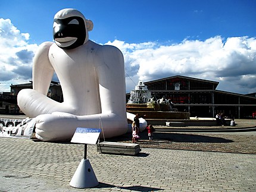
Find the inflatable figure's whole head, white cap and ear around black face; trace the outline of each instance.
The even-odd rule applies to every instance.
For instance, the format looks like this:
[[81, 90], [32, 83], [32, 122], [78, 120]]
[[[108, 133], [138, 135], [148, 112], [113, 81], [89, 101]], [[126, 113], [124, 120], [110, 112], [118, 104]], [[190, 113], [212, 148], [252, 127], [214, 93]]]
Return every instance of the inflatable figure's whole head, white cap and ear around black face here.
[[74, 49], [89, 40], [93, 23], [80, 11], [64, 9], [54, 16], [54, 41], [62, 49]]

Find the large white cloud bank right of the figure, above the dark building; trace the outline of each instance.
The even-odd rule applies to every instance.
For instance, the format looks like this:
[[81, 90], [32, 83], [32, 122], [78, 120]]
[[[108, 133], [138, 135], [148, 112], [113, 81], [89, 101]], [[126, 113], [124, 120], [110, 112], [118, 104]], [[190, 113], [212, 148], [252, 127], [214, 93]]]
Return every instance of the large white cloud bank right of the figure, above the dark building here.
[[[127, 74], [150, 81], [172, 75], [219, 81], [217, 89], [235, 93], [256, 92], [256, 39], [249, 37], [211, 37], [161, 46], [156, 42], [128, 44], [108, 42], [123, 53]], [[126, 91], [134, 84], [127, 79]]]

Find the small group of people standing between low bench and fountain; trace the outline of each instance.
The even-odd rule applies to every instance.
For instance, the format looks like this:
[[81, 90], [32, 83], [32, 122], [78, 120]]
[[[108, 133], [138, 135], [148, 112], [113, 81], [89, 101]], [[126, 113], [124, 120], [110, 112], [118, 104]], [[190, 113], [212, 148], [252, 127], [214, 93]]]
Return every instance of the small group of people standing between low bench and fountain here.
[[[136, 114], [132, 122], [132, 143], [136, 143], [139, 140], [139, 118], [141, 118], [140, 115]], [[146, 129], [148, 130], [148, 138], [152, 141], [154, 127], [152, 125], [148, 125]]]

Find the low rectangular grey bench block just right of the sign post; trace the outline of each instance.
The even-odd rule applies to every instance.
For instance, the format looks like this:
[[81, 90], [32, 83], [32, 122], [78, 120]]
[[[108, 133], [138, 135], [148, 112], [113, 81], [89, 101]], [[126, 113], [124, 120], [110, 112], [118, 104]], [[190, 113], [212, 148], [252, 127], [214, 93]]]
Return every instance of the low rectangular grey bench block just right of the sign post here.
[[141, 151], [139, 144], [136, 143], [117, 143], [103, 141], [97, 144], [97, 152], [113, 153], [122, 155], [136, 155]]

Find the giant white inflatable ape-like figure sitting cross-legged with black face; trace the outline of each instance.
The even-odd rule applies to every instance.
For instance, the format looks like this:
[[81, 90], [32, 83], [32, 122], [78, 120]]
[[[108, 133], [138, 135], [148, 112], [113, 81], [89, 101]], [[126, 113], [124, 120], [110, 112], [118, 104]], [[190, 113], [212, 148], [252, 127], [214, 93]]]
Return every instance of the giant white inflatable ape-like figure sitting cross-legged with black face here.
[[[36, 119], [42, 141], [71, 139], [77, 127], [101, 128], [105, 138], [126, 133], [123, 54], [114, 46], [89, 40], [93, 23], [74, 9], [54, 17], [54, 42], [40, 45], [33, 63], [33, 89], [18, 93], [18, 106]], [[63, 90], [63, 103], [46, 96], [54, 72]], [[142, 127], [146, 121], [141, 119]], [[142, 128], [142, 129], [143, 129]], [[102, 135], [101, 135], [102, 137]]]

